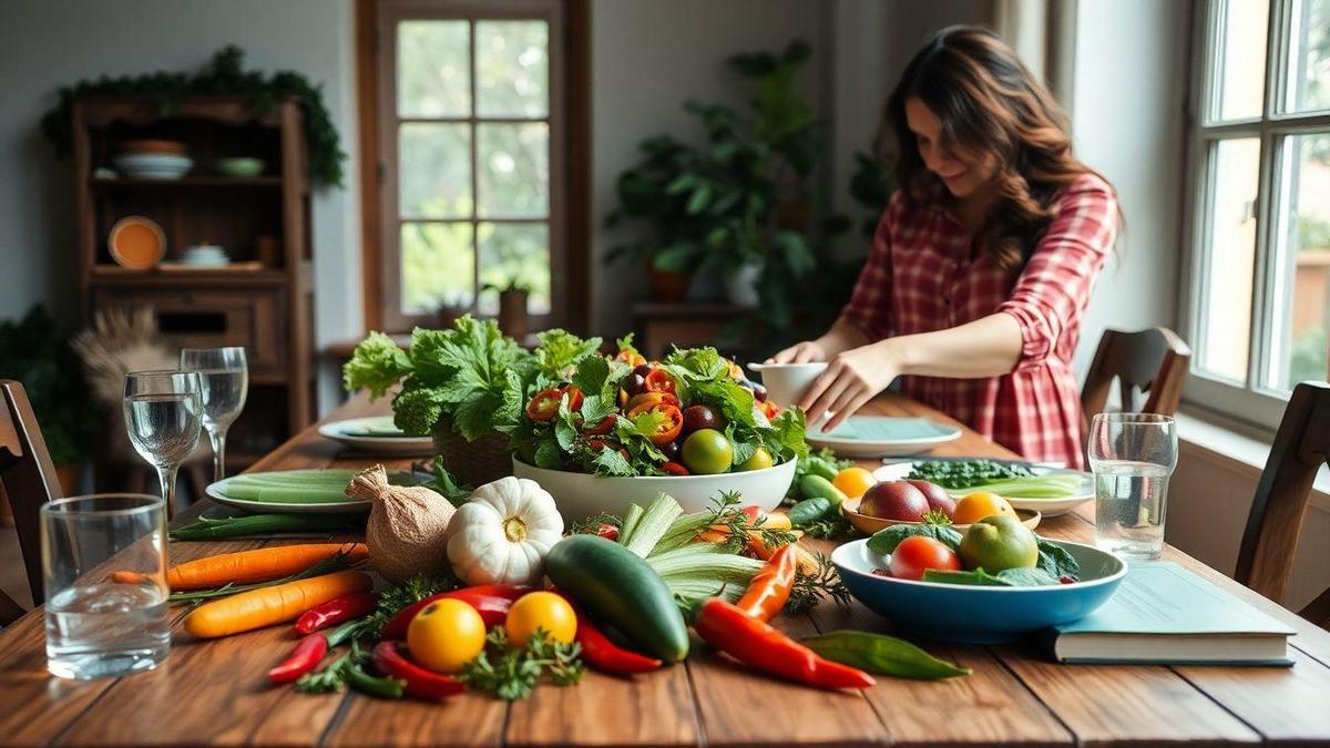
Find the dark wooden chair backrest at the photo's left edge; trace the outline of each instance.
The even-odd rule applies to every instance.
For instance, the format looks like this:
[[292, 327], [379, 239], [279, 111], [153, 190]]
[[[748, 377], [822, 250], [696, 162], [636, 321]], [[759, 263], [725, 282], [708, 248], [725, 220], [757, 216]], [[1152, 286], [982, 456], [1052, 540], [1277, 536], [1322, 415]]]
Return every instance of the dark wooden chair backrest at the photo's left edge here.
[[23, 385], [0, 379], [0, 480], [13, 508], [13, 526], [32, 600], [40, 606], [41, 520], [37, 512], [41, 504], [61, 496], [60, 482]]

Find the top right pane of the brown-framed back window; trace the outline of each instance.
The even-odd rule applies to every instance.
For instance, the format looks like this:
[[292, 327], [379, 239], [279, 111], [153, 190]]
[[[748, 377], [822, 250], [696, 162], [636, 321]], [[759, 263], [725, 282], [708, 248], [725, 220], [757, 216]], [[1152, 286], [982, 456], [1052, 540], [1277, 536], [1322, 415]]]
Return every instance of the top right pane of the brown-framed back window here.
[[544, 117], [549, 110], [549, 24], [476, 21], [476, 112]]

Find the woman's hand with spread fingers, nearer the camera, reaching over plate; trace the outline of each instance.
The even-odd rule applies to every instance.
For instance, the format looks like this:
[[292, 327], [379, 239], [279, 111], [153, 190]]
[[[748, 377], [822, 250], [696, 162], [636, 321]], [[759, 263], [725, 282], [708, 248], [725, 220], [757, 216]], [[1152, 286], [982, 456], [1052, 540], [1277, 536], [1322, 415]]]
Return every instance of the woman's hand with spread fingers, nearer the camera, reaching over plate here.
[[898, 374], [900, 362], [894, 353], [891, 338], [850, 349], [837, 355], [827, 370], [813, 381], [799, 407], [807, 414], [809, 426], [830, 413], [831, 419], [822, 426], [822, 431], [830, 431], [878, 393], [886, 390]]

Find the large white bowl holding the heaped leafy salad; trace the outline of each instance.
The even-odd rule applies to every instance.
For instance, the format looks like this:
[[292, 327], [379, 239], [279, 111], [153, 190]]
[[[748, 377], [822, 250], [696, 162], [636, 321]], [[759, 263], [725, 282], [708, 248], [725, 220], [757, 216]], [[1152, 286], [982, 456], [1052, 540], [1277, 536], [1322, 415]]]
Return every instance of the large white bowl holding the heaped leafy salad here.
[[657, 494], [669, 494], [684, 511], [712, 508], [724, 491], [738, 491], [741, 506], [757, 504], [763, 511], [781, 506], [794, 482], [795, 461], [765, 470], [722, 472], [721, 475], [646, 475], [641, 478], [600, 478], [587, 472], [547, 470], [512, 458], [512, 474], [529, 478], [549, 491], [565, 522], [595, 516], [602, 511], [622, 516], [628, 504], [646, 506]]

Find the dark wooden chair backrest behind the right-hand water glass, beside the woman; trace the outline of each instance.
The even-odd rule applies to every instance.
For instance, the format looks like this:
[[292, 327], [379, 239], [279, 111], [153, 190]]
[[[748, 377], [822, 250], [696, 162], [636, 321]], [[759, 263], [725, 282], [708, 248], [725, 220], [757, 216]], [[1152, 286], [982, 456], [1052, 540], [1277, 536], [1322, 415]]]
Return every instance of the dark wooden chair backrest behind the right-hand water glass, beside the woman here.
[[[1104, 330], [1081, 389], [1087, 422], [1104, 413], [1113, 379], [1119, 382], [1124, 411], [1176, 414], [1190, 361], [1192, 349], [1168, 327], [1136, 333]], [[1145, 393], [1149, 397], [1142, 403]]]

